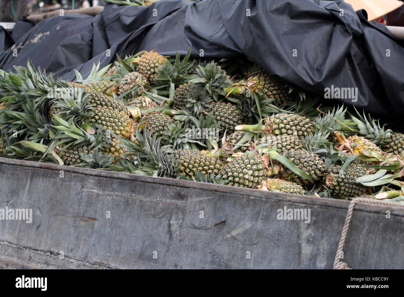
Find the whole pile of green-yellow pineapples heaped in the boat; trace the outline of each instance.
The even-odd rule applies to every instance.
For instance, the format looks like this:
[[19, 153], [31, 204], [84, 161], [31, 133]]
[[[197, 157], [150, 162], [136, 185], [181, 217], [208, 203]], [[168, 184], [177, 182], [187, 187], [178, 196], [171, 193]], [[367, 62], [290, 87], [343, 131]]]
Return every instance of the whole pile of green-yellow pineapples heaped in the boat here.
[[[321, 197], [402, 200], [404, 135], [241, 57], [142, 51], [67, 82], [0, 73], [0, 154]], [[329, 102], [328, 102], [329, 103]], [[319, 107], [319, 105], [321, 105]]]

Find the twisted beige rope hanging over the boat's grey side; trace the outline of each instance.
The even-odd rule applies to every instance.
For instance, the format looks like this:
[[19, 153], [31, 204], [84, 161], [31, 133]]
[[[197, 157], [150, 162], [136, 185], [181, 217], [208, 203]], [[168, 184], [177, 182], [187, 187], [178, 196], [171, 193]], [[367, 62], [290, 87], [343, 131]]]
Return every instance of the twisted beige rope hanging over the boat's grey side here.
[[347, 237], [349, 222], [351, 221], [353, 208], [355, 207], [356, 202], [365, 202], [365, 203], [381, 204], [381, 205], [388, 205], [388, 206], [404, 207], [404, 203], [392, 202], [392, 201], [387, 201], [387, 200], [370, 199], [370, 198], [353, 199], [348, 207], [348, 213], [347, 213], [347, 217], [345, 219], [344, 227], [342, 229], [341, 239], [339, 240], [337, 255], [335, 255], [333, 269], [351, 269], [348, 267], [347, 263], [340, 261], [339, 255], [341, 255], [342, 249], [344, 247], [345, 238]]

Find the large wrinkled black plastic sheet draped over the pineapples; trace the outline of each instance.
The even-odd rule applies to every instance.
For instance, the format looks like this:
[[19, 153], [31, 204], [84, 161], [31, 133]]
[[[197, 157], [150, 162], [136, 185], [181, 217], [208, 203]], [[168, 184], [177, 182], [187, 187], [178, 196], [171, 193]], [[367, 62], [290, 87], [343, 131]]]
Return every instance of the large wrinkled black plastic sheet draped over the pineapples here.
[[[0, 36], [1, 37], [1, 36]], [[92, 17], [45, 19], [12, 48], [0, 53], [0, 67], [46, 68], [74, 80], [93, 62], [101, 66], [141, 50], [163, 55], [246, 55], [271, 74], [324, 97], [326, 88], [353, 88], [356, 96], [337, 103], [396, 117], [404, 116], [404, 48], [383, 24], [367, 21], [343, 1], [160, 0], [151, 6], [107, 4]], [[7, 46], [4, 46], [7, 48]], [[347, 94], [345, 94], [347, 95]], [[335, 97], [335, 96], [334, 96]], [[330, 99], [331, 100], [331, 99]]]

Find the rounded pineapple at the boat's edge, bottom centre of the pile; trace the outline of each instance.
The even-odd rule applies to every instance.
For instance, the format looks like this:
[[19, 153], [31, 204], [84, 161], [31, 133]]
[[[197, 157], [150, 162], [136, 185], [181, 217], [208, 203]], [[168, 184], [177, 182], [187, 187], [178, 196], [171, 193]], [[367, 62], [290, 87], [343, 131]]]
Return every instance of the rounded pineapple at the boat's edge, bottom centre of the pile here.
[[266, 170], [260, 158], [248, 153], [225, 164], [219, 174], [229, 185], [256, 188], [265, 179]]

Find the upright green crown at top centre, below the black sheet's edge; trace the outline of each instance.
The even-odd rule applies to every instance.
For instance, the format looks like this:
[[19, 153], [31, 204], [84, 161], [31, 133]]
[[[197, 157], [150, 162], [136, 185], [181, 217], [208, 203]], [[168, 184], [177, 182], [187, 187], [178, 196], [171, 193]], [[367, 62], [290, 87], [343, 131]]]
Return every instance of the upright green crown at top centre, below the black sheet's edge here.
[[204, 85], [209, 95], [211, 95], [215, 101], [218, 101], [219, 95], [226, 95], [224, 88], [228, 88], [233, 84], [225, 71], [213, 61], [208, 63], [206, 67], [198, 66], [196, 72], [199, 77], [191, 79], [190, 82], [194, 82], [197, 85]]

